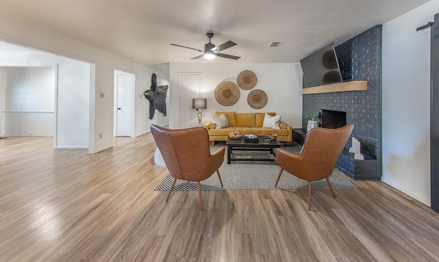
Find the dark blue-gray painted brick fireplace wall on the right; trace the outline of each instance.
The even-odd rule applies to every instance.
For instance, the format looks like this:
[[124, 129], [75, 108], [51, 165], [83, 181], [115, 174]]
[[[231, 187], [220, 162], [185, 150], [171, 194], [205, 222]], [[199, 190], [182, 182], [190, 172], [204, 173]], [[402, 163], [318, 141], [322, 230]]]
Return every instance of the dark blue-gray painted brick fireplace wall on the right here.
[[302, 116], [319, 109], [346, 112], [346, 123], [355, 125], [352, 136], [361, 142], [364, 160], [348, 152], [350, 139], [336, 166], [355, 180], [381, 179], [381, 32], [377, 25], [335, 47], [343, 81], [366, 80], [368, 90], [302, 96]]

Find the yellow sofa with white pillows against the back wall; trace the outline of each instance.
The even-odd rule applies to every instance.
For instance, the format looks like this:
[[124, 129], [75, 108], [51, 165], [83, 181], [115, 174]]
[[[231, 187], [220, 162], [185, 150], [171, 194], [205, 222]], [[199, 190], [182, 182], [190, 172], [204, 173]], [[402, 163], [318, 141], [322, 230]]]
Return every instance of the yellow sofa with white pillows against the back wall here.
[[[228, 127], [223, 129], [215, 129], [215, 122], [211, 121], [204, 125], [204, 128], [209, 131], [209, 141], [211, 146], [215, 141], [227, 141], [228, 133], [231, 131], [239, 131], [241, 134], [255, 134], [255, 135], [270, 135], [276, 133], [277, 140], [282, 142], [291, 142], [293, 138], [293, 129], [291, 125], [281, 122], [279, 127], [281, 129], [268, 129], [263, 126], [263, 119], [265, 113], [235, 113], [235, 112], [215, 112], [215, 116], [224, 114], [228, 121]], [[276, 116], [276, 113], [267, 113], [270, 116]]]

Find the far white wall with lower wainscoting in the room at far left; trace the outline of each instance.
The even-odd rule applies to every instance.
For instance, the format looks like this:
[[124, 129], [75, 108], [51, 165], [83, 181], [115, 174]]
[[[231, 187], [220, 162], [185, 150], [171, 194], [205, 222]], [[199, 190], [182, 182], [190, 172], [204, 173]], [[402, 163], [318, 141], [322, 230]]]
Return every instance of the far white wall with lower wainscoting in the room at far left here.
[[3, 135], [54, 135], [56, 67], [0, 67]]

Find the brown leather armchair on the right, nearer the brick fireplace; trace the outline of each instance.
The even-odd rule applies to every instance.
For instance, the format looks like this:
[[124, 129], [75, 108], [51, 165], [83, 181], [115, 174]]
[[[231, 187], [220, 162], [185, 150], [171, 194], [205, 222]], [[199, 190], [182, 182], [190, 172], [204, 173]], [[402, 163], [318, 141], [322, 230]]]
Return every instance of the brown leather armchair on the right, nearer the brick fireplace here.
[[275, 187], [283, 170], [308, 181], [308, 209], [311, 210], [311, 181], [327, 179], [329, 188], [335, 198], [329, 176], [331, 176], [338, 157], [342, 153], [346, 142], [354, 129], [353, 125], [346, 125], [338, 129], [316, 127], [311, 129], [305, 137], [303, 150], [300, 153], [291, 153], [282, 148], [276, 148], [274, 159], [281, 167]]

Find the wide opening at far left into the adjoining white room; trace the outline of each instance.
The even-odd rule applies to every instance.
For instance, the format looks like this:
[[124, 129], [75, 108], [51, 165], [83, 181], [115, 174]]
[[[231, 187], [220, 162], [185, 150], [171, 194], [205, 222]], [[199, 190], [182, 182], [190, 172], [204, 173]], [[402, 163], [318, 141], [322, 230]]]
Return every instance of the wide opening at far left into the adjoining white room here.
[[1, 41], [0, 53], [0, 135], [51, 136], [54, 148], [95, 153], [94, 64]]

